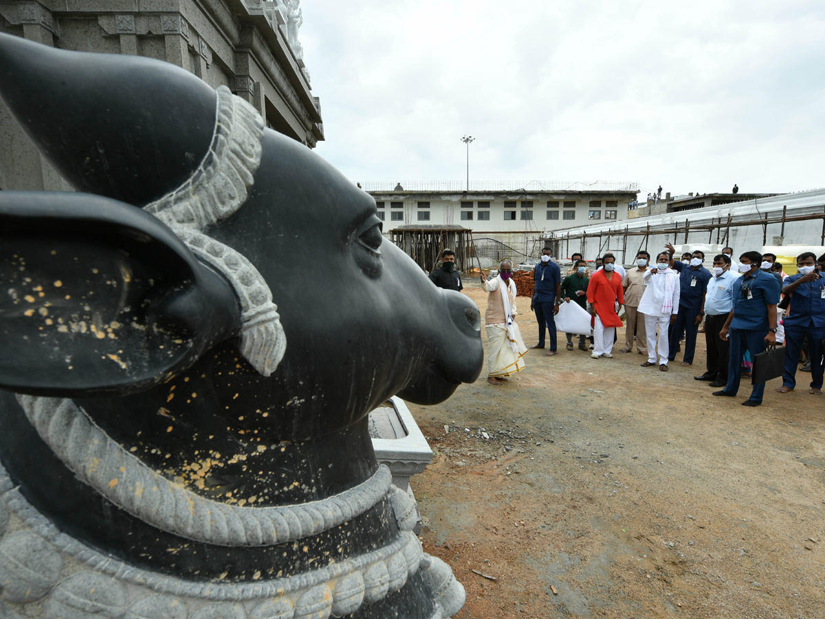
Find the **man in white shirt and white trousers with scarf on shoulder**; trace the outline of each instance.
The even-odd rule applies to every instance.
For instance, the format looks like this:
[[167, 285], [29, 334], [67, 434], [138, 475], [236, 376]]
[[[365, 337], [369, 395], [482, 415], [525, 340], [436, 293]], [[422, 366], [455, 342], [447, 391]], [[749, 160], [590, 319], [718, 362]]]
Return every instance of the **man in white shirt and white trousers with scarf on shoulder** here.
[[[667, 328], [676, 321], [679, 314], [679, 273], [670, 267], [671, 255], [662, 252], [656, 257], [656, 268], [648, 269], [644, 275], [644, 293], [637, 308], [644, 314], [644, 326], [648, 331], [648, 361], [642, 366], [655, 366], [667, 371], [667, 355], [670, 343]], [[659, 328], [659, 345], [656, 346], [656, 328]]]

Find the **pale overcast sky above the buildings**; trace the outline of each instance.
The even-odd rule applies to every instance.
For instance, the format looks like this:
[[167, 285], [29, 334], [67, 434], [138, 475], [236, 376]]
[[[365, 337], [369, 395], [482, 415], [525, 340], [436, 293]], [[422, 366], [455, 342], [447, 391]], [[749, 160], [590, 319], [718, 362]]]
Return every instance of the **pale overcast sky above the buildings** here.
[[304, 0], [353, 182], [825, 187], [823, 0]]

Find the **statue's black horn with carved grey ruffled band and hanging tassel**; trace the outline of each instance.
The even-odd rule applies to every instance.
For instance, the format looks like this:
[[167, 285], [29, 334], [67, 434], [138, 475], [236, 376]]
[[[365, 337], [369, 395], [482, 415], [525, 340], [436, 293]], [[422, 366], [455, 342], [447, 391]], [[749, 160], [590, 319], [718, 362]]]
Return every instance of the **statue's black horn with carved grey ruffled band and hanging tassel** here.
[[286, 348], [269, 286], [241, 253], [204, 234], [247, 199], [261, 163], [257, 111], [171, 64], [10, 35], [0, 35], [0, 92], [73, 187], [144, 208], [227, 278], [240, 305], [240, 352], [269, 376]]

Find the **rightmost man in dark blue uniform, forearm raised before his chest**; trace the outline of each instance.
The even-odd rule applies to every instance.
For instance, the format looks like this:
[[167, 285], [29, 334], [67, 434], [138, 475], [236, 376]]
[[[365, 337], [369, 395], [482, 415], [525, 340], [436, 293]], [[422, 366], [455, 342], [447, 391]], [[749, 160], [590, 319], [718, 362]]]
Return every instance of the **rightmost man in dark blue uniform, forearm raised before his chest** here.
[[784, 295], [790, 297], [790, 314], [785, 317], [785, 372], [782, 386], [786, 394], [796, 386], [796, 368], [802, 340], [808, 336], [811, 360], [811, 390], [813, 395], [823, 393], [823, 338], [825, 338], [825, 277], [817, 271], [812, 252], [800, 253], [796, 258], [799, 273], [785, 280]]

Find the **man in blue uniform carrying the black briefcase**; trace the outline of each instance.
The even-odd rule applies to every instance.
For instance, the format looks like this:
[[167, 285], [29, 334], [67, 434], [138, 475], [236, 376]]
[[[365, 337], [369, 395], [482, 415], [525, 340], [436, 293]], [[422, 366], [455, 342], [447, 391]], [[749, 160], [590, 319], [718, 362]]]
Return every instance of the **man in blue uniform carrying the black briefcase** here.
[[[733, 397], [739, 390], [742, 378], [742, 355], [746, 350], [751, 357], [765, 350], [766, 344], [776, 343], [776, 301], [779, 299], [779, 284], [774, 276], [759, 270], [762, 254], [746, 252], [739, 257], [739, 290], [734, 288], [733, 309], [719, 332], [720, 338], [730, 338], [730, 361], [728, 361], [728, 385], [714, 395]], [[743, 406], [759, 406], [765, 395], [765, 383], [753, 385], [751, 397], [742, 402]]]

